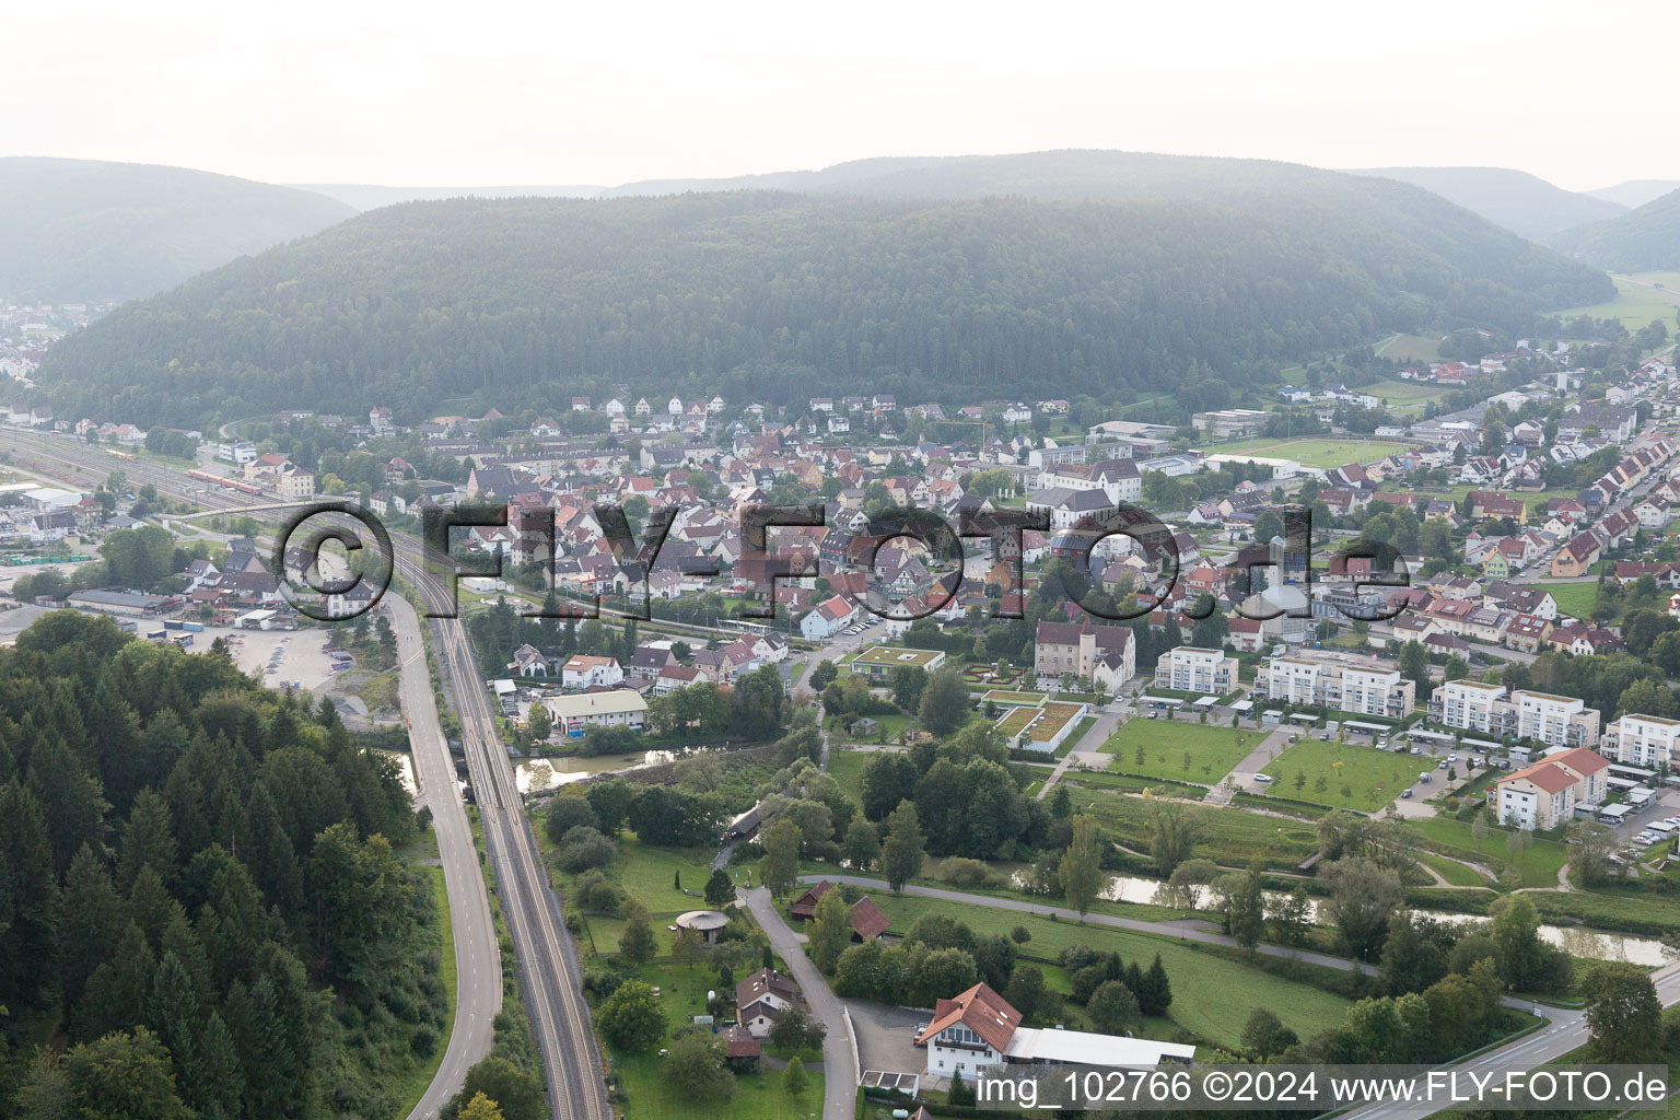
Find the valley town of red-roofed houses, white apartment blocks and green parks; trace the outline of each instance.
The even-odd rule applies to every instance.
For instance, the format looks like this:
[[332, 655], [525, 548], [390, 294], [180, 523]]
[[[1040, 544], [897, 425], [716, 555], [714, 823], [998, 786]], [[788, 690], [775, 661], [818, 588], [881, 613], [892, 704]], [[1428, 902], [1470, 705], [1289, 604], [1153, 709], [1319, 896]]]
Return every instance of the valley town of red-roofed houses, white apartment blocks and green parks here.
[[[627, 391], [207, 433], [12, 405], [8, 626], [109, 615], [412, 727], [402, 611], [299, 593], [314, 557], [274, 571], [265, 522], [506, 509], [452, 546], [472, 668], [606, 1090], [643, 1115], [961, 1105], [1011, 1065], [1448, 1060], [1662, 966], [1680, 922], [1672, 353], [1314, 368], [1186, 423]], [[1116, 507], [1158, 527], [1095, 532]], [[1038, 527], [949, 554], [906, 510]], [[1438, 1018], [1349, 1049], [1413, 1004]]]

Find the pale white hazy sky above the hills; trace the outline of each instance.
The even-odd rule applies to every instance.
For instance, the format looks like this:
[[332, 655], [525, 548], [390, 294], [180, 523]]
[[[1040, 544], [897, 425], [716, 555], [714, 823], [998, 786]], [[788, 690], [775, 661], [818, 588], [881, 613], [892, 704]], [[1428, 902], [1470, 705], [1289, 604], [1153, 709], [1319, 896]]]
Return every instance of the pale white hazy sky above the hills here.
[[3, 27], [0, 153], [270, 181], [622, 183], [1043, 148], [1680, 178], [1672, 0], [55, 0]]

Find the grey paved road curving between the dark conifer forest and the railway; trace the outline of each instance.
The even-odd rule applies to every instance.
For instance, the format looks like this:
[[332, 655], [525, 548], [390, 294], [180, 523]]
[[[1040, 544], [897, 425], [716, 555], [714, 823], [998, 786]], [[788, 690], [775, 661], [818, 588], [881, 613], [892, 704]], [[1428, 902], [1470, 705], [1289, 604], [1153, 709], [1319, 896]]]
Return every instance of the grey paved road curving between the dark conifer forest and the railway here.
[[472, 845], [472, 826], [455, 788], [455, 766], [437, 720], [432, 677], [420, 643], [420, 618], [407, 599], [390, 596], [391, 628], [402, 660], [402, 709], [408, 715], [418, 803], [432, 809], [437, 850], [449, 890], [449, 920], [455, 935], [455, 1029], [444, 1061], [408, 1120], [432, 1120], [454, 1096], [467, 1070], [491, 1053], [496, 1013], [502, 1006], [501, 947], [491, 922], [484, 870]]

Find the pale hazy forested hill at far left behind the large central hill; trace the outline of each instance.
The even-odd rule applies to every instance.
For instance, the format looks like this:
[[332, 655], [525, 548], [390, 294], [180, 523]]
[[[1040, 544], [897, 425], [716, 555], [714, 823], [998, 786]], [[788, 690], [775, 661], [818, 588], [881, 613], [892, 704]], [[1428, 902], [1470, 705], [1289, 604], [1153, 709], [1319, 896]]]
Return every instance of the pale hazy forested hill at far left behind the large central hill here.
[[351, 213], [324, 195], [208, 171], [0, 158], [0, 297], [151, 296]]

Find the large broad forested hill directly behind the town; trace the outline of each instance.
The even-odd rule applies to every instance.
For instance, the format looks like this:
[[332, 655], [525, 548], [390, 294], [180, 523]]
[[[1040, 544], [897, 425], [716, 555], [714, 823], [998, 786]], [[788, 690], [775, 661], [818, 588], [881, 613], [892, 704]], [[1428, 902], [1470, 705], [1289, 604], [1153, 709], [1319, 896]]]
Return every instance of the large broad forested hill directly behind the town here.
[[124, 307], [37, 379], [60, 415], [144, 427], [375, 403], [420, 418], [472, 395], [556, 408], [620, 385], [736, 403], [1171, 388], [1201, 406], [1383, 331], [1522, 332], [1613, 292], [1415, 186], [1285, 178], [1218, 201], [388, 207]]

